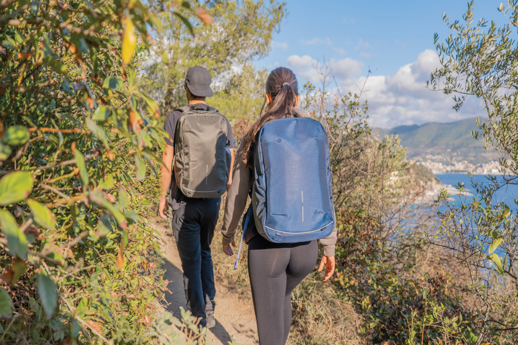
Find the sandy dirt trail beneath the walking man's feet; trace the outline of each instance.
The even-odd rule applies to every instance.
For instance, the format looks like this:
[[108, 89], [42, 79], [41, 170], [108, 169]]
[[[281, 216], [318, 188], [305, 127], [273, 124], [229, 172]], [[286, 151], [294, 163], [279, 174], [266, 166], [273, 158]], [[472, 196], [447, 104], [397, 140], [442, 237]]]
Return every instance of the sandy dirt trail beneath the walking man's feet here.
[[[165, 261], [164, 279], [170, 281], [168, 288], [172, 293], [166, 293], [166, 301], [169, 305], [164, 306], [175, 317], [180, 318], [180, 307], [185, 308], [185, 293], [183, 290], [182, 265], [175, 237], [170, 228], [164, 227], [156, 221], [151, 221], [150, 226], [160, 232], [165, 241], [162, 247], [162, 254]], [[214, 249], [213, 249], [214, 250]], [[232, 294], [223, 284], [215, 279], [216, 307], [214, 317], [216, 326], [209, 329], [209, 338], [213, 345], [227, 345], [232, 335], [242, 344], [258, 344], [257, 326], [252, 301], [246, 298], [239, 298]]]

